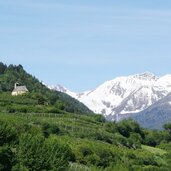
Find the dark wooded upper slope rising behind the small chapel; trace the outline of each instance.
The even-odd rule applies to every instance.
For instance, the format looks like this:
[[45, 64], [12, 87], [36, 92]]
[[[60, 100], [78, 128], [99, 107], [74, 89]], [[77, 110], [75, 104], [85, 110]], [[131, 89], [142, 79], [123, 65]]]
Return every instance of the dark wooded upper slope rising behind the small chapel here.
[[26, 85], [30, 94], [40, 96], [39, 98], [49, 104], [62, 104], [63, 110], [67, 112], [92, 113], [88, 107], [69, 95], [48, 89], [37, 78], [28, 74], [21, 65], [6, 66], [0, 63], [0, 92], [11, 92], [16, 82]]

